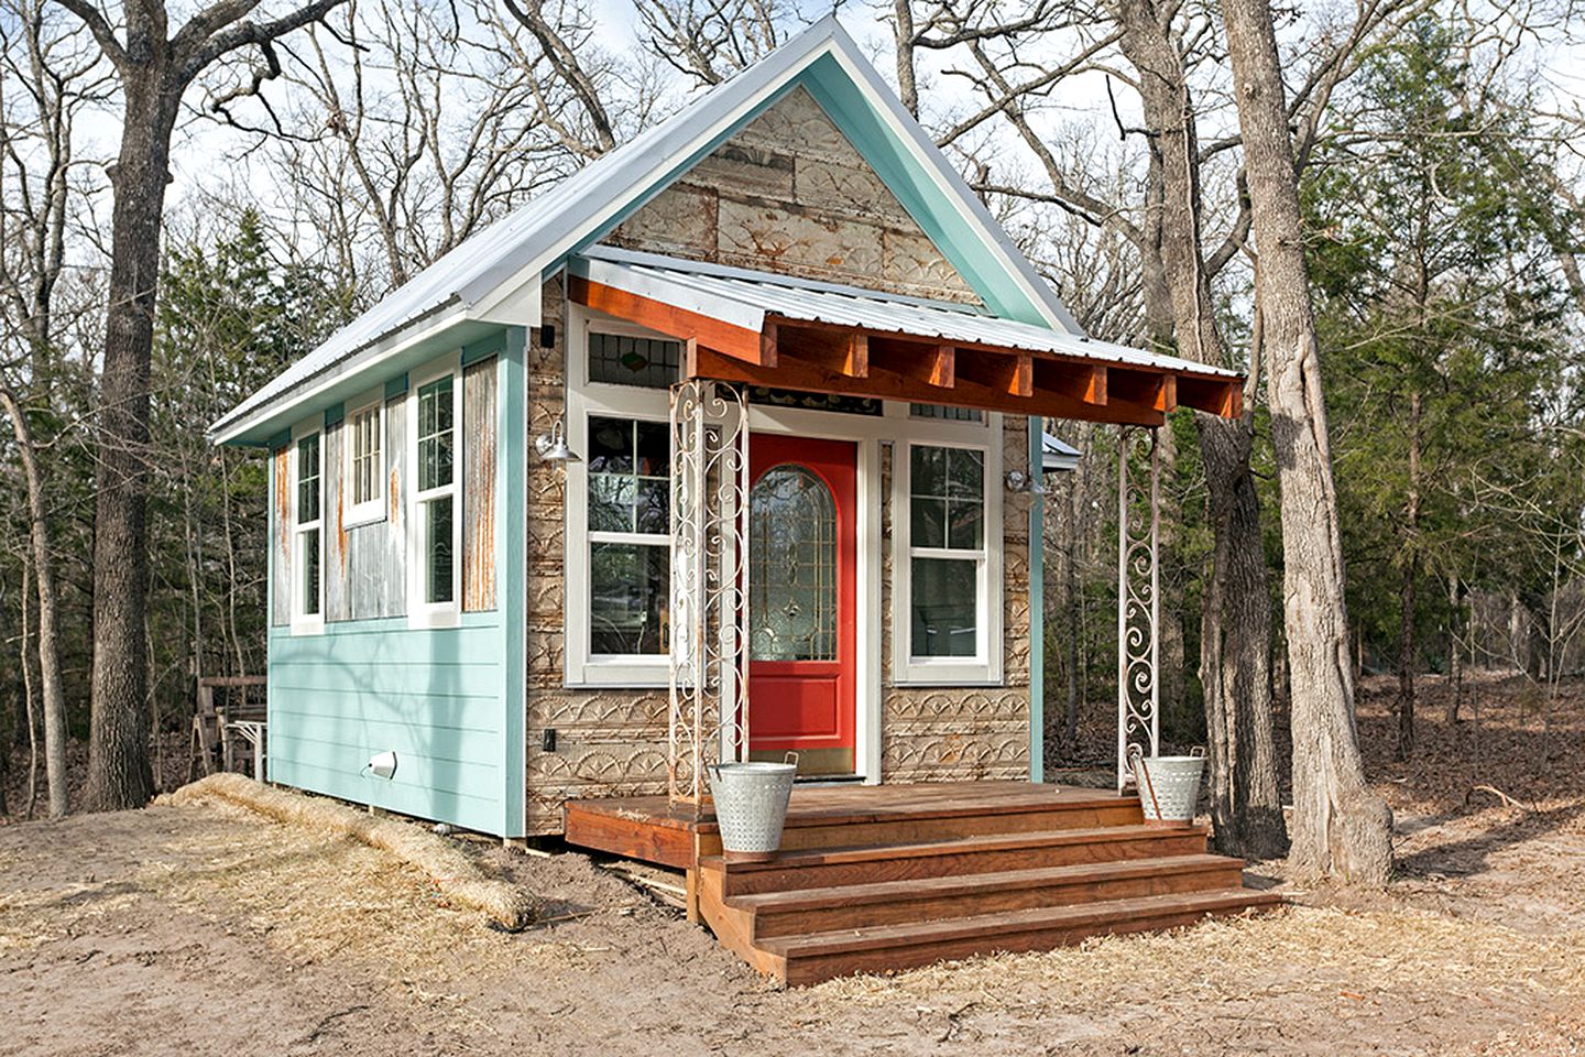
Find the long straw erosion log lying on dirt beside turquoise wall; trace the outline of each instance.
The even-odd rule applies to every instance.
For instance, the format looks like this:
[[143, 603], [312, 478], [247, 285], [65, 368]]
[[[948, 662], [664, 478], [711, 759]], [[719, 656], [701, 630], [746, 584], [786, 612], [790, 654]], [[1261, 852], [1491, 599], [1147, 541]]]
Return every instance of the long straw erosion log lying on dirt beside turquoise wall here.
[[209, 775], [170, 796], [170, 802], [178, 805], [208, 799], [228, 800], [279, 822], [350, 837], [387, 851], [428, 875], [445, 899], [482, 910], [506, 929], [523, 929], [537, 916], [537, 900], [529, 892], [487, 876], [479, 862], [460, 848], [411, 822], [365, 815], [322, 797], [271, 789], [233, 773]]

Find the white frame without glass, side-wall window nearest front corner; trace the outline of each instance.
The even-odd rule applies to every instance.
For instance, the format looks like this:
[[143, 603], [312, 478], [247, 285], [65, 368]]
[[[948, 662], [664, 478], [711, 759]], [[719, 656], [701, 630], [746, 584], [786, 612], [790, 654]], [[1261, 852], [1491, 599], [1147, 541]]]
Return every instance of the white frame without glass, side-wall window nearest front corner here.
[[[461, 352], [453, 352], [414, 371], [407, 383], [407, 626], [456, 628], [463, 621], [463, 368]], [[426, 385], [452, 376], [452, 482], [418, 490], [418, 393]], [[425, 602], [428, 553], [425, 548], [423, 504], [452, 498], [452, 601]]]

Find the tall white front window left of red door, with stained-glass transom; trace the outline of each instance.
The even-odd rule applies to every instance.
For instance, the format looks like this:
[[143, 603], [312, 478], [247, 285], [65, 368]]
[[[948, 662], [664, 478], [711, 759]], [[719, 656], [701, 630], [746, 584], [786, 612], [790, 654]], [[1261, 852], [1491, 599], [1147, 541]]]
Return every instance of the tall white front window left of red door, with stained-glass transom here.
[[669, 678], [672, 487], [669, 388], [682, 344], [577, 312], [567, 333], [566, 678]]

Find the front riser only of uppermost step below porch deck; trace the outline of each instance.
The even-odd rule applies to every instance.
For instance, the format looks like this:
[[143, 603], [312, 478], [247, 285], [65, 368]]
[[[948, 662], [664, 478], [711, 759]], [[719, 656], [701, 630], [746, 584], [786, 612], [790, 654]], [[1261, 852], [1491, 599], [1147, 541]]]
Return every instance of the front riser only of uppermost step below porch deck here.
[[1205, 853], [1205, 834], [1201, 830], [1160, 830], [1149, 837], [1094, 840], [1073, 845], [1035, 845], [938, 856], [869, 859], [862, 862], [815, 862], [772, 870], [728, 868], [723, 878], [723, 889], [726, 895], [747, 895], [753, 892], [785, 892], [788, 889], [826, 887], [832, 884], [907, 881], [911, 878], [959, 876], [1000, 870], [1037, 870], [1083, 862], [1117, 862], [1122, 859], [1195, 856], [1201, 853]]

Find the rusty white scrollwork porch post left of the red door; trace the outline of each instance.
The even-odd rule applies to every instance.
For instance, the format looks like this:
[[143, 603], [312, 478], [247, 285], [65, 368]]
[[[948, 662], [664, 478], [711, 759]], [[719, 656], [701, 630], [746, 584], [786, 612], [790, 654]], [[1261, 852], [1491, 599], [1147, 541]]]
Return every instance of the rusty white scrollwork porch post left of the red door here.
[[696, 808], [705, 765], [748, 750], [748, 399], [672, 387], [672, 591], [667, 788]]

